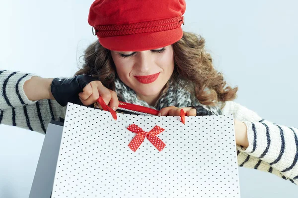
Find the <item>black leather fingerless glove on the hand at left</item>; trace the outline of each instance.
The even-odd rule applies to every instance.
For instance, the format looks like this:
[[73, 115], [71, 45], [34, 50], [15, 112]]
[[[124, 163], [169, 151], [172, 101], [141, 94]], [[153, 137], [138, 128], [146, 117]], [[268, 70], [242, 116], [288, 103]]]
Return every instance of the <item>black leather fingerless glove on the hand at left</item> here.
[[83, 105], [78, 94], [83, 91], [88, 83], [96, 80], [98, 79], [85, 74], [67, 79], [55, 78], [51, 84], [51, 92], [61, 106], [66, 106], [68, 102]]

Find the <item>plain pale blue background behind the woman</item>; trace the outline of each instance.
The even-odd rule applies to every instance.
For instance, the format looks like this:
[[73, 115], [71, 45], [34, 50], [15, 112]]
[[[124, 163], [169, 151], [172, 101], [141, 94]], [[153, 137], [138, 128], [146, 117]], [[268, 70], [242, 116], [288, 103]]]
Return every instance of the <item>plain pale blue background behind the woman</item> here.
[[[93, 41], [92, 0], [1, 0], [0, 69], [42, 77], [72, 76]], [[156, 1], [157, 2], [157, 1]], [[215, 67], [238, 85], [240, 104], [263, 118], [296, 126], [298, 2], [187, 0], [185, 31], [206, 39]], [[0, 126], [0, 198], [27, 198], [44, 135]], [[298, 186], [239, 168], [242, 198], [296, 197]]]

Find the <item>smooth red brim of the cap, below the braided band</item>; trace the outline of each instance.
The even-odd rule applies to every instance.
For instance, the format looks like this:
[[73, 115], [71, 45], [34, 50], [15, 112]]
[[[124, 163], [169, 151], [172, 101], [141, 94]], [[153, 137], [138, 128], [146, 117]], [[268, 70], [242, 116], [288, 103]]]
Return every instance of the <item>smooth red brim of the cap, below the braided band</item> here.
[[179, 41], [183, 36], [182, 28], [160, 32], [130, 34], [114, 37], [99, 37], [99, 43], [114, 51], [143, 51], [163, 48]]

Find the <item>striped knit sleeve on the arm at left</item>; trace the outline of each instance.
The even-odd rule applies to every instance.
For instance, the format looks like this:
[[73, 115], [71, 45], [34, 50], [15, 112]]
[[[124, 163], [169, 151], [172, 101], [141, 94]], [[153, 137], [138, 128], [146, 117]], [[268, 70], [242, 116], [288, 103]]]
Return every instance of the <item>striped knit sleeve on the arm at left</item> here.
[[48, 123], [65, 117], [66, 107], [56, 100], [29, 100], [23, 90], [32, 74], [0, 70], [0, 124], [45, 133]]

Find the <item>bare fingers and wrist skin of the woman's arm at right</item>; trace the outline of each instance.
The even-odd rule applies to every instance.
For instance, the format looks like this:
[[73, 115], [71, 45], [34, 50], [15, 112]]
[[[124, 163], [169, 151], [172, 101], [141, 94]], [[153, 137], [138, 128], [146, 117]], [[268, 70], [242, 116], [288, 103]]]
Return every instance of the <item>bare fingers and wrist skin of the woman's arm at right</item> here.
[[[183, 109], [186, 112], [187, 116], [195, 116], [197, 114], [197, 111], [195, 108], [192, 107], [183, 107], [183, 108], [178, 108], [175, 106], [169, 106], [160, 109], [158, 116], [180, 116], [180, 110]], [[245, 148], [248, 147], [248, 139], [247, 139], [247, 128], [246, 125], [237, 120], [234, 119], [234, 127], [235, 127], [235, 139], [236, 139], [236, 144], [241, 145]]]

